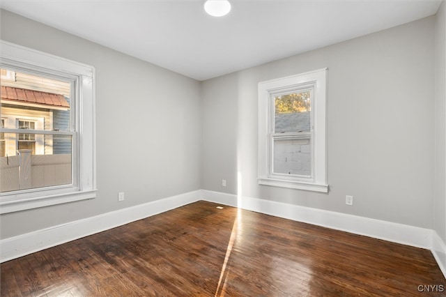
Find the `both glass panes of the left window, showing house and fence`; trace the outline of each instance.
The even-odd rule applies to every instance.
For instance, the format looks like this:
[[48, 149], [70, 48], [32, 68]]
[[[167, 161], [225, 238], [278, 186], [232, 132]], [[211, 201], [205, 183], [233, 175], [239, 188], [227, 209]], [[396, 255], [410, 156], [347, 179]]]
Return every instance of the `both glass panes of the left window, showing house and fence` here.
[[[1, 192], [72, 185], [71, 82], [1, 69]], [[45, 131], [45, 133], [43, 133]], [[63, 132], [64, 134], [61, 134]]]

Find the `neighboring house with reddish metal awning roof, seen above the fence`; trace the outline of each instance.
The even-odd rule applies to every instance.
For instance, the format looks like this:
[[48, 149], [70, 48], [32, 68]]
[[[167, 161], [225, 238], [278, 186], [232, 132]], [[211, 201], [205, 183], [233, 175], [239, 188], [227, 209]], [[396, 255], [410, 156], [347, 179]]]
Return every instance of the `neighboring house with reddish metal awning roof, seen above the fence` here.
[[[24, 130], [68, 130], [70, 84], [1, 70], [1, 126]], [[0, 157], [31, 149], [33, 155], [71, 153], [71, 143], [57, 135], [1, 133]]]

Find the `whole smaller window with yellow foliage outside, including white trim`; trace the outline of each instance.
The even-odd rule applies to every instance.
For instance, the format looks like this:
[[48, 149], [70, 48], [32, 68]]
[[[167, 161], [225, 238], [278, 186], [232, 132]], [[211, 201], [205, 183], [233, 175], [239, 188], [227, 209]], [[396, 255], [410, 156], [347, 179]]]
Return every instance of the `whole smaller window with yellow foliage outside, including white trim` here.
[[328, 192], [326, 73], [259, 83], [259, 184]]

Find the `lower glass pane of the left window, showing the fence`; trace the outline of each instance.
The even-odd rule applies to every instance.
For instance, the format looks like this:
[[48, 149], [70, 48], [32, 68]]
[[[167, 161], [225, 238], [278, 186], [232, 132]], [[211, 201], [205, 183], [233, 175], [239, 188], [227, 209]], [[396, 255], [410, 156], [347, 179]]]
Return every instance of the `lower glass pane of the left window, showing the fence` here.
[[[72, 137], [70, 135], [33, 135], [36, 142], [18, 142], [15, 148], [15, 133], [5, 133], [7, 156], [0, 157], [0, 192], [45, 188], [72, 183]], [[39, 142], [63, 144], [63, 151], [53, 149], [45, 152]], [[51, 145], [52, 146], [52, 145]]]

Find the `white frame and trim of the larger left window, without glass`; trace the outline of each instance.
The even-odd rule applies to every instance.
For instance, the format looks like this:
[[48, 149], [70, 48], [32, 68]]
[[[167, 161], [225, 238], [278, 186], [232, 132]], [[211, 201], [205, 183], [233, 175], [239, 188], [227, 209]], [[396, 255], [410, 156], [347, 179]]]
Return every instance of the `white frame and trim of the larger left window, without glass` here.
[[[95, 69], [75, 61], [39, 52], [28, 47], [0, 40], [0, 66], [14, 70], [45, 73], [49, 77], [63, 77], [72, 82], [71, 130], [58, 134], [73, 136], [71, 185], [33, 188], [0, 193], [0, 214], [31, 208], [92, 199], [96, 196], [95, 166]], [[0, 128], [5, 133], [24, 132], [20, 129]], [[52, 131], [38, 131], [52, 134]]]

